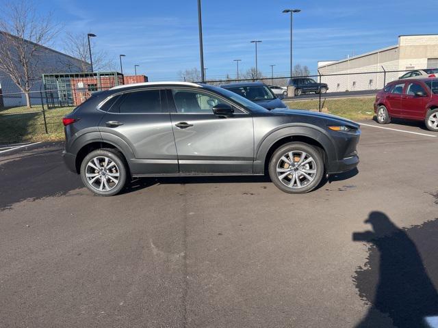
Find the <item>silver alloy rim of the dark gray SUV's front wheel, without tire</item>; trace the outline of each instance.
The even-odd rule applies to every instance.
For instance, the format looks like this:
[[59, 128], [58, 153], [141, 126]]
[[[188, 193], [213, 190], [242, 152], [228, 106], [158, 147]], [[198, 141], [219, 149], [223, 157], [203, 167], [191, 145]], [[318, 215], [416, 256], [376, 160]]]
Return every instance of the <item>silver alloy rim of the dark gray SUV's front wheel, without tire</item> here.
[[276, 164], [276, 175], [286, 187], [301, 189], [309, 185], [317, 173], [315, 160], [307, 152], [292, 150], [283, 154]]

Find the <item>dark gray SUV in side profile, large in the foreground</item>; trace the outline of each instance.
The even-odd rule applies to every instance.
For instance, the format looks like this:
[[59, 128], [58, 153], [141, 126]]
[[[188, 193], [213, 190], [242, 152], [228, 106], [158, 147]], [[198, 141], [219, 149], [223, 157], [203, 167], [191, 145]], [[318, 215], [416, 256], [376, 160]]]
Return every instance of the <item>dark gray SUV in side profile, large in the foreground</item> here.
[[268, 111], [195, 83], [139, 83], [96, 92], [63, 119], [67, 167], [98, 195], [131, 177], [263, 175], [305, 193], [356, 167], [359, 124], [333, 115]]

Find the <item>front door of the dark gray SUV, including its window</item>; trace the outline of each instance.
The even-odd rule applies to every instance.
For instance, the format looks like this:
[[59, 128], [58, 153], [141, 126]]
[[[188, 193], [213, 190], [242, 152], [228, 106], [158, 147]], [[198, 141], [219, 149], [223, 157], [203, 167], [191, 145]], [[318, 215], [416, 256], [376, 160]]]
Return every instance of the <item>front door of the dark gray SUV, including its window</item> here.
[[[175, 88], [168, 91], [179, 172], [182, 174], [253, 173], [253, 117], [226, 99], [205, 91]], [[234, 108], [231, 117], [215, 115], [212, 107]]]

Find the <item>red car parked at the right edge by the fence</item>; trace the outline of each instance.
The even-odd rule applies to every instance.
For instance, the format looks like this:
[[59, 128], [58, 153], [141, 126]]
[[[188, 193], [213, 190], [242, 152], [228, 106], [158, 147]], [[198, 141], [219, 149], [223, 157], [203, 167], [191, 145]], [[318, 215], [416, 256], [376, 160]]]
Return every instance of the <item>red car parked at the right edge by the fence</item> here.
[[430, 131], [438, 132], [438, 79], [404, 79], [390, 82], [378, 92], [374, 102], [377, 122], [391, 118], [424, 121]]

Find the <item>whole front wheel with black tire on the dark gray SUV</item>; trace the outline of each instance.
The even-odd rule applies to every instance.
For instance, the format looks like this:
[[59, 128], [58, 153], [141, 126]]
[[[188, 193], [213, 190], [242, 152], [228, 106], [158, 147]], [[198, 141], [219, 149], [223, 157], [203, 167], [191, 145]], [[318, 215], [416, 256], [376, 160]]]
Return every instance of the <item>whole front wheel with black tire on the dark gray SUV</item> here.
[[[305, 156], [302, 158], [302, 163], [305, 163], [305, 165], [296, 166], [296, 164], [299, 163], [296, 159], [300, 159], [303, 152], [308, 155], [307, 157]], [[291, 153], [294, 164], [290, 161]], [[306, 163], [309, 158], [313, 161]], [[289, 160], [289, 164], [294, 165], [294, 168], [283, 159]], [[281, 170], [281, 172], [277, 172], [277, 169]], [[307, 176], [313, 178], [313, 180], [309, 180], [302, 175], [303, 173], [300, 171], [301, 169], [305, 171]], [[308, 193], [320, 184], [321, 179], [324, 176], [324, 161], [322, 160], [322, 153], [319, 148], [310, 146], [307, 143], [291, 142], [286, 143], [275, 150], [270, 159], [268, 170], [272, 182], [281, 191], [284, 191], [285, 193]], [[315, 171], [314, 174], [309, 173], [313, 170]], [[290, 174], [284, 176], [287, 172], [290, 172]], [[281, 176], [284, 177], [281, 178]], [[302, 185], [302, 187], [298, 186], [298, 181], [296, 180], [297, 177], [299, 184]]]

